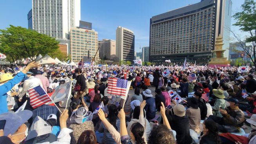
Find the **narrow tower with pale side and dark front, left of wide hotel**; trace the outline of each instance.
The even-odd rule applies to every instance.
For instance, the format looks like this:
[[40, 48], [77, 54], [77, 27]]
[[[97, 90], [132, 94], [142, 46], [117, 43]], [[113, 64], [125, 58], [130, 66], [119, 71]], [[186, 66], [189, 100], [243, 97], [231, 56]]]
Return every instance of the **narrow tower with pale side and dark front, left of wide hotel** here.
[[133, 31], [124, 27], [117, 27], [116, 29], [116, 56], [119, 61], [134, 60], [134, 42], [135, 36]]

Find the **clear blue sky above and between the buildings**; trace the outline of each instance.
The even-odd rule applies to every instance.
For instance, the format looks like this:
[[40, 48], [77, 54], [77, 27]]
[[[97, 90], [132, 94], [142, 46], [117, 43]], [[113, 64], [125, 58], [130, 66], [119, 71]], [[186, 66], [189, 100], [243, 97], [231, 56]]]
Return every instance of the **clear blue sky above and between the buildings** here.
[[[240, 10], [244, 0], [232, 0], [232, 12]], [[130, 29], [135, 34], [135, 51], [149, 46], [150, 18], [200, 0], [81, 0], [81, 20], [92, 22], [98, 40], [115, 40], [117, 26]], [[32, 0], [0, 0], [0, 29], [9, 25], [27, 28], [27, 13]], [[232, 20], [231, 24], [234, 23]], [[237, 27], [231, 26], [237, 31]]]

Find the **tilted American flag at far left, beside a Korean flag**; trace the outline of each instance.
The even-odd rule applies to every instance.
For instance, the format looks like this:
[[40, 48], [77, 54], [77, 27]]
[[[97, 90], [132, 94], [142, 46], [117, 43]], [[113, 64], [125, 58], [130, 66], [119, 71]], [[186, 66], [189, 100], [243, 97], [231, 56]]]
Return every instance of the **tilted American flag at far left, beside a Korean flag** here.
[[36, 86], [30, 89], [28, 92], [30, 96], [30, 105], [33, 108], [37, 108], [38, 106], [51, 101], [50, 97], [45, 93], [41, 86]]

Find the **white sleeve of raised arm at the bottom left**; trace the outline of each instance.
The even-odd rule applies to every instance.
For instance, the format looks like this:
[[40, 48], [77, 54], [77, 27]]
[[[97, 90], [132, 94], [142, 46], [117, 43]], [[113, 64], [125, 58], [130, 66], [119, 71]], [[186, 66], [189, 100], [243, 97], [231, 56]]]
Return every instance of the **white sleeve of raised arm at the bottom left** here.
[[73, 130], [69, 128], [63, 128], [59, 131], [58, 139], [56, 142], [43, 142], [40, 144], [70, 144], [70, 133], [72, 133]]

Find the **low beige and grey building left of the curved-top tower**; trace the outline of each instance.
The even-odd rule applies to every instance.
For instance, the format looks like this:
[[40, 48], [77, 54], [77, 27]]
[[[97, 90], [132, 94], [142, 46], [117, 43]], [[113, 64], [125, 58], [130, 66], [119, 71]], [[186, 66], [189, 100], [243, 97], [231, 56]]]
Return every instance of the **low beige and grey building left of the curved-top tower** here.
[[113, 60], [116, 56], [115, 40], [103, 39], [98, 42], [99, 58], [105, 60]]

